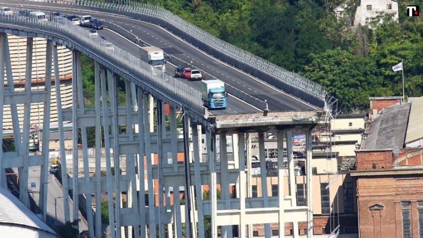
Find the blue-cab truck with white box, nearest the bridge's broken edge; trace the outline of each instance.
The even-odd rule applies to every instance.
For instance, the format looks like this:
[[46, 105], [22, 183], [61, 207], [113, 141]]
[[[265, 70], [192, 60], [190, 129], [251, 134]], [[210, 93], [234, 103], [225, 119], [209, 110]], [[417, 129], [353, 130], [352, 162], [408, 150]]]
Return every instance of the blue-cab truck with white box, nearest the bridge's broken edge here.
[[209, 109], [226, 109], [225, 83], [218, 79], [202, 80], [201, 93], [204, 105]]

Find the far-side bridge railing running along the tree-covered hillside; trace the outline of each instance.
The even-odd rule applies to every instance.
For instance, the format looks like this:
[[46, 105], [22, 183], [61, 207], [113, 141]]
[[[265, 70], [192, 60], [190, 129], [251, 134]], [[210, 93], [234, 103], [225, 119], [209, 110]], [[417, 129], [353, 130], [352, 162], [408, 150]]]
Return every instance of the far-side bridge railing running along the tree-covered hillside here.
[[[260, 77], [279, 89], [299, 96], [303, 100], [316, 104], [315, 100], [317, 99], [320, 101], [320, 103], [317, 103], [318, 106], [323, 107], [327, 99], [327, 92], [320, 84], [227, 43], [164, 8], [139, 2], [127, 2], [126, 5], [120, 5], [92, 0], [75, 0], [74, 4], [109, 9], [109, 11], [113, 10], [114, 13], [117, 11], [136, 19], [163, 25], [182, 35], [185, 40], [192, 44], [201, 46], [200, 48], [209, 54], [225, 59], [228, 63]], [[310, 96], [304, 96], [304, 93]]]

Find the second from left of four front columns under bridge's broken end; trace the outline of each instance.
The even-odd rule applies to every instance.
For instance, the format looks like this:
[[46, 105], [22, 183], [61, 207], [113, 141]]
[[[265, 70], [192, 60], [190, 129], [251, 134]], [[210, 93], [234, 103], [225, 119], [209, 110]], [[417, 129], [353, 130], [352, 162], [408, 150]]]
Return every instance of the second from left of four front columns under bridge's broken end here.
[[[238, 133], [238, 162], [240, 168], [240, 181], [239, 181], [239, 193], [238, 196], [240, 198], [240, 227], [238, 237], [245, 238], [245, 190], [246, 190], [246, 182], [245, 182], [245, 156], [244, 156], [244, 148], [245, 148], [245, 140], [244, 140], [244, 133]], [[235, 147], [235, 143], [233, 144]], [[234, 148], [235, 149], [235, 148]], [[235, 151], [235, 150], [234, 150]]]

